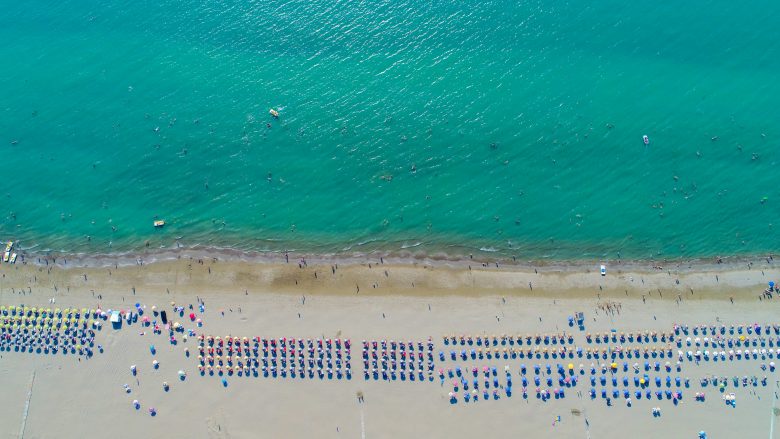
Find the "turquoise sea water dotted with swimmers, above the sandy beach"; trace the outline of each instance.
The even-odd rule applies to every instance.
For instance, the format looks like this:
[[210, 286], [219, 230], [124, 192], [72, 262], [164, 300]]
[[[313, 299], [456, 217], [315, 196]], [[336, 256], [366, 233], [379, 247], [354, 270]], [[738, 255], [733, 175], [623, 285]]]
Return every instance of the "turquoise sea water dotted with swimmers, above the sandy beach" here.
[[661, 3], [6, 2], [0, 237], [776, 250], [780, 3]]

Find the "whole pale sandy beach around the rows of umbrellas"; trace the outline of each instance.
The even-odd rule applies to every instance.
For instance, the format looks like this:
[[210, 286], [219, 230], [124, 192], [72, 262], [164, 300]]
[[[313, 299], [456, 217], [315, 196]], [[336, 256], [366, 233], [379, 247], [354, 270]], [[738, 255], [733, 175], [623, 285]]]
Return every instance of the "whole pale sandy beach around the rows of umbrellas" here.
[[[225, 377], [224, 385], [216, 374], [198, 372], [194, 336], [184, 341], [179, 334], [173, 345], [165, 330], [157, 335], [140, 323], [125, 323], [121, 329], [104, 325], [95, 335], [95, 343], [104, 352], [92, 357], [0, 352], [2, 437], [461, 438], [489, 434], [507, 438], [687, 438], [697, 437], [700, 430], [713, 438], [780, 437], [770, 431], [777, 373], [760, 368], [770, 358], [698, 364], [686, 359], [680, 371], [649, 373], [690, 379], [690, 387], [682, 389], [683, 398], [677, 404], [667, 398], [641, 398], [628, 407], [621, 396], [611, 399], [608, 406], [600, 395], [591, 398], [587, 394], [591, 388], [587, 371], [566, 389], [565, 397], [543, 401], [533, 383], [524, 397], [520, 367], [525, 364], [531, 369], [539, 364], [544, 369], [551, 364], [554, 375], [556, 364], [584, 364], [589, 369], [591, 363], [600, 368], [611, 359], [452, 361], [449, 352], [460, 351], [461, 346], [443, 341], [450, 334], [522, 337], [565, 331], [573, 338], [568, 346], [586, 349], [596, 346], [588, 343], [586, 334], [611, 330], [669, 333], [675, 324], [779, 324], [777, 298], [762, 296], [767, 282], [780, 274], [769, 259], [723, 264], [613, 262], [604, 277], [598, 273], [598, 263], [584, 262], [534, 266], [392, 257], [304, 261], [299, 256], [290, 256], [288, 262], [283, 255], [262, 261], [226, 255], [215, 259], [197, 251], [165, 258], [146, 256], [143, 263], [138, 258], [65, 259], [38, 262], [30, 256], [24, 264], [0, 265], [0, 305], [131, 310], [139, 303], [146, 307], [145, 315], [151, 316], [152, 306], [172, 315], [173, 302], [187, 307], [184, 317], [176, 320], [194, 334], [350, 339], [353, 375], [351, 379], [231, 375]], [[204, 312], [197, 310], [199, 301], [205, 304]], [[202, 318], [201, 327], [187, 318], [190, 304]], [[584, 313], [583, 330], [568, 324], [568, 317], [576, 312]], [[429, 337], [435, 357], [430, 378], [427, 371], [422, 381], [364, 378], [362, 340], [416, 344]], [[155, 355], [150, 353], [151, 344], [157, 348]], [[661, 348], [667, 343], [645, 345]], [[678, 350], [692, 349], [696, 350], [684, 344], [671, 347], [672, 363]], [[152, 367], [155, 359], [159, 369]], [[670, 360], [615, 361], [663, 364]], [[130, 372], [131, 365], [137, 365], [136, 376]], [[469, 371], [485, 366], [499, 371], [500, 397], [465, 402], [467, 392], [461, 389], [451, 400], [452, 379], [441, 380], [439, 369]], [[511, 396], [504, 392], [505, 366], [514, 381]], [[183, 381], [177, 377], [179, 370], [187, 373]], [[730, 407], [716, 388], [700, 386], [701, 378], [712, 376], [768, 378], [766, 385], [729, 386], [725, 393], [737, 397], [735, 407]], [[168, 391], [162, 388], [164, 381], [169, 383]], [[125, 384], [131, 389], [129, 394], [123, 389]], [[600, 392], [601, 386], [595, 387]], [[617, 387], [622, 393], [626, 386]], [[633, 397], [634, 386], [627, 387]], [[612, 386], [606, 388], [611, 393]], [[652, 390], [656, 391], [655, 386]], [[695, 401], [698, 392], [706, 392], [703, 402]], [[132, 407], [133, 400], [140, 402], [139, 410]], [[156, 409], [156, 416], [149, 415], [149, 407]], [[653, 407], [661, 408], [661, 416], [651, 414]]]

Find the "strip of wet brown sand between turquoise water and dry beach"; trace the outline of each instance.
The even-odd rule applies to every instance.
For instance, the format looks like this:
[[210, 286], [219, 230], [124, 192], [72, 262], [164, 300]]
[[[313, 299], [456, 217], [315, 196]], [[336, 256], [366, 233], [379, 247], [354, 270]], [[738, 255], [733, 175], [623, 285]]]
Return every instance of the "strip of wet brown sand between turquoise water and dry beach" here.
[[150, 251], [143, 255], [28, 256], [1, 264], [0, 291], [42, 291], [49, 297], [93, 291], [127, 294], [322, 294], [369, 297], [536, 297], [667, 300], [752, 299], [778, 280], [769, 258], [657, 262], [601, 261], [535, 264], [533, 261], [437, 260], [368, 255], [289, 255]]

